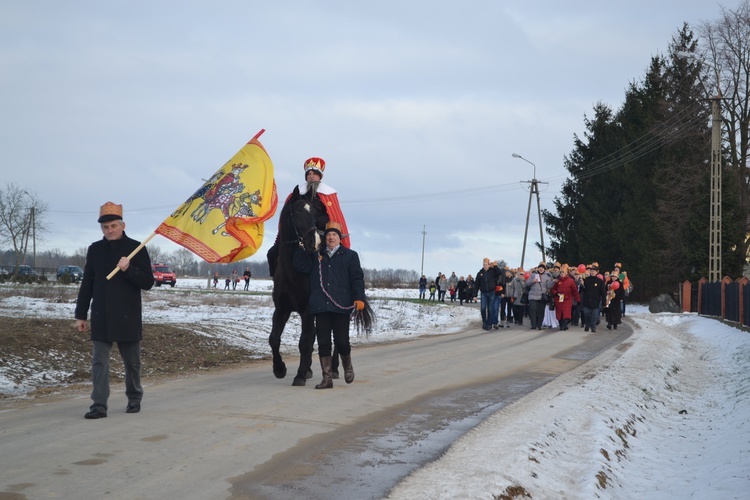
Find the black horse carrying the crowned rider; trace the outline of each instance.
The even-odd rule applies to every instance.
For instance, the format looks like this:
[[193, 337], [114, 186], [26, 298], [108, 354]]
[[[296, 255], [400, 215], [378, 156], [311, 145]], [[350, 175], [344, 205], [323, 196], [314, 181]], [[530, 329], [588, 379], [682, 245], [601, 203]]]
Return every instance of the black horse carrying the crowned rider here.
[[[314, 195], [312, 195], [314, 196]], [[302, 331], [299, 338], [300, 361], [293, 386], [304, 386], [312, 377], [312, 352], [315, 343], [315, 320], [308, 311], [310, 276], [294, 270], [292, 258], [297, 248], [315, 251], [321, 244], [321, 231], [316, 226], [316, 211], [309, 195], [301, 195], [295, 187], [284, 203], [279, 216], [278, 256], [269, 252], [269, 266], [273, 275], [273, 325], [268, 343], [273, 354], [273, 374], [286, 377], [286, 364], [281, 358], [281, 334], [293, 312], [300, 316]], [[271, 262], [273, 260], [274, 262]], [[354, 318], [358, 332], [369, 334], [374, 314], [368, 301]]]

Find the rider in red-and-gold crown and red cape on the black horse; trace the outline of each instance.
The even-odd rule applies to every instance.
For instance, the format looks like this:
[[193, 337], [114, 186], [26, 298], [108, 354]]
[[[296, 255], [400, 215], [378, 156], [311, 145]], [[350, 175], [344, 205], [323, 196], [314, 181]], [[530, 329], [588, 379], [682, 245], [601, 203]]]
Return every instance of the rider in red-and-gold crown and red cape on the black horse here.
[[[341, 245], [345, 248], [351, 248], [351, 238], [349, 237], [349, 230], [346, 227], [346, 219], [344, 219], [344, 213], [341, 211], [341, 205], [339, 204], [339, 197], [334, 188], [323, 182], [323, 172], [326, 169], [326, 162], [323, 158], [313, 156], [305, 160], [303, 164], [305, 169], [305, 182], [300, 183], [299, 192], [301, 194], [312, 195], [313, 205], [315, 207], [315, 213], [317, 219], [315, 225], [318, 230], [322, 233], [326, 229], [326, 224], [329, 220], [335, 220], [341, 225]], [[287, 200], [289, 200], [287, 196]], [[276, 236], [276, 242], [268, 250], [266, 257], [268, 258], [268, 268], [273, 277], [276, 270], [276, 259], [279, 256], [279, 241], [278, 235]]]

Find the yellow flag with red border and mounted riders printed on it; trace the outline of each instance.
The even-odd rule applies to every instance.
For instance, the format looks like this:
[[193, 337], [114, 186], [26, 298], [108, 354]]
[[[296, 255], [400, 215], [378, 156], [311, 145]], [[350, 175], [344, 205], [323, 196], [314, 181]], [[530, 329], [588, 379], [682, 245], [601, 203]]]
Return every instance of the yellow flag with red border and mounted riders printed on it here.
[[263, 242], [263, 222], [273, 217], [279, 202], [273, 163], [258, 141], [263, 132], [250, 139], [155, 232], [206, 262], [236, 262], [257, 252]]

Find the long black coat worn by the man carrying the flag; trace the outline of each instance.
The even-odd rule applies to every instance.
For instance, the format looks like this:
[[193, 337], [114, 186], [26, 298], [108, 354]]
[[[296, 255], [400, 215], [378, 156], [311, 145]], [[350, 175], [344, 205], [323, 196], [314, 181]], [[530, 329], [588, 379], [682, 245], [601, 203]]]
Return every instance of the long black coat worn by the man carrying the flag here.
[[125, 233], [119, 240], [102, 238], [86, 252], [83, 280], [78, 289], [75, 318], [88, 319], [91, 307], [91, 340], [99, 342], [138, 342], [143, 340], [141, 290], [154, 286], [151, 258], [142, 248], [130, 260], [126, 271], [112, 279], [107, 275], [140, 245]]

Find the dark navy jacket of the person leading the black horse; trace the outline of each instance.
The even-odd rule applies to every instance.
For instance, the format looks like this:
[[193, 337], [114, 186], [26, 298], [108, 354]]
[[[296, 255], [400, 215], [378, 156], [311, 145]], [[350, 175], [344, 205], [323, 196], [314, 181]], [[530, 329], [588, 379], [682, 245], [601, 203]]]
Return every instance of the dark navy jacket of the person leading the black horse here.
[[292, 265], [310, 275], [310, 314], [349, 314], [355, 300], [365, 300], [365, 275], [354, 250], [342, 245], [329, 257], [326, 249], [311, 253], [298, 248]]

